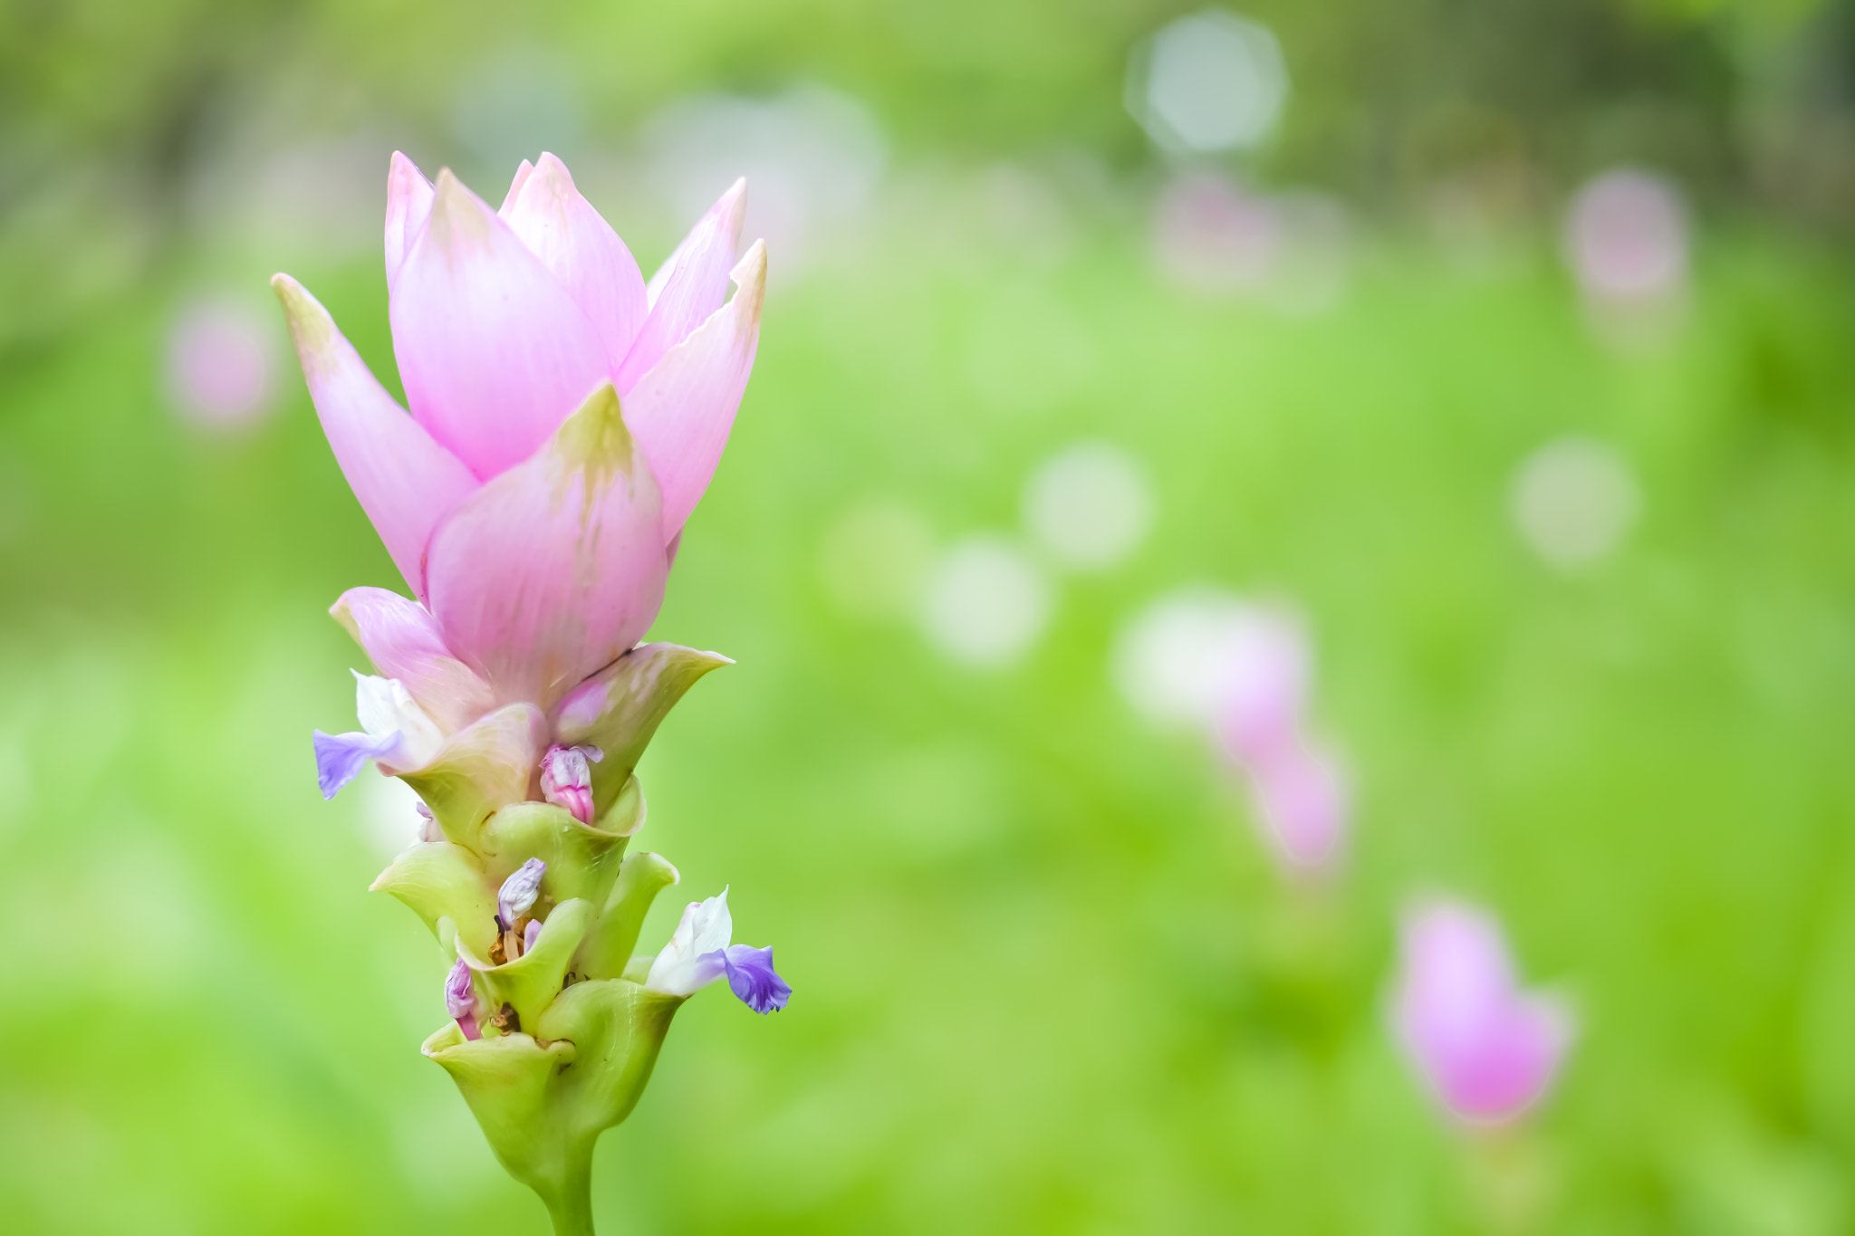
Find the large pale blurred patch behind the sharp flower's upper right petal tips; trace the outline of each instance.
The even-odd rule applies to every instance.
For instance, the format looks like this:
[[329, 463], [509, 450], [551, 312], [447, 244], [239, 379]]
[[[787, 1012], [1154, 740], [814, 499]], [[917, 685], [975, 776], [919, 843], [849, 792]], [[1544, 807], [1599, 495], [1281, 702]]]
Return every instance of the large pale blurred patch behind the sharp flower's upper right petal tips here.
[[855, 98], [800, 85], [775, 98], [710, 95], [672, 104], [644, 126], [647, 174], [673, 217], [694, 217], [748, 178], [744, 235], [777, 254], [775, 278], [857, 219], [883, 174], [883, 132]]

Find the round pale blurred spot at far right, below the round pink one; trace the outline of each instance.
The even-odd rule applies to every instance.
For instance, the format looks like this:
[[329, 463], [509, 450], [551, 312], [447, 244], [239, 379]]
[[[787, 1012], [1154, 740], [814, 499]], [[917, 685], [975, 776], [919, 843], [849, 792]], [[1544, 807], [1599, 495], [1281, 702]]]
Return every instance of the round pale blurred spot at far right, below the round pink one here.
[[1590, 437], [1534, 450], [1514, 476], [1514, 523], [1547, 563], [1577, 569], [1618, 547], [1642, 500], [1629, 463]]

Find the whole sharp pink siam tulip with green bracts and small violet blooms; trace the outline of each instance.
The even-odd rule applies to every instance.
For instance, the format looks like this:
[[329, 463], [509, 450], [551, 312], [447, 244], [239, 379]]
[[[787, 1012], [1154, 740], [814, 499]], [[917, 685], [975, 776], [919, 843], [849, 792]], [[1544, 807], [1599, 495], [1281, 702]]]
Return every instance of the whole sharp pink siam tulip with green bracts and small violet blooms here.
[[684, 915], [664, 954], [634, 956], [677, 882], [629, 851], [634, 769], [688, 687], [731, 663], [638, 639], [753, 367], [766, 248], [735, 261], [742, 204], [736, 183], [646, 284], [553, 156], [521, 165], [499, 211], [395, 156], [388, 317], [410, 411], [321, 304], [273, 280], [328, 443], [412, 593], [332, 606], [377, 676], [356, 675], [358, 732], [315, 732], [317, 780], [334, 795], [375, 760], [419, 795], [419, 841], [373, 888], [454, 960], [451, 1023], [423, 1053], [556, 1234], [592, 1232], [594, 1145], [638, 1103], [683, 1001], [714, 977], [757, 1012], [790, 997], [772, 949], [729, 943], [722, 899], [701, 930]]

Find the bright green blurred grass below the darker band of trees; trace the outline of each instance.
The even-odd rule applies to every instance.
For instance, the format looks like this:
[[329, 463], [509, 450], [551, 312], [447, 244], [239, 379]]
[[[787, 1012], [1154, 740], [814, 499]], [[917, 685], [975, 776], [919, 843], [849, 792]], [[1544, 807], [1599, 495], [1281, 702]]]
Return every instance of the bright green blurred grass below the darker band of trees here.
[[[388, 378], [375, 265], [297, 274]], [[293, 374], [247, 435], [161, 406], [186, 278], [0, 385], [9, 1223], [540, 1230], [417, 1056], [443, 958], [365, 893], [362, 795], [323, 804], [310, 775], [364, 663], [323, 608], [397, 580]], [[679, 893], [731, 882], [798, 995], [679, 1015], [603, 1141], [603, 1223], [1844, 1230], [1848, 287], [1833, 254], [1720, 233], [1681, 339], [1629, 358], [1543, 250], [1469, 274], [1367, 243], [1304, 319], [1180, 296], [1113, 226], [1054, 265], [892, 239], [775, 284], [655, 630], [740, 665], [651, 749], [642, 843]], [[1052, 302], [1080, 352], [1022, 313]], [[976, 387], [1000, 345], [976, 332], [1013, 319], [1007, 374], [1011, 348], [1024, 382], [1080, 358], [1041, 413]], [[1506, 487], [1573, 430], [1625, 452], [1645, 519], [1562, 578]], [[833, 608], [818, 547], [846, 511], [1011, 528], [1076, 437], [1150, 469], [1159, 524], [1063, 586], [1022, 667]], [[1193, 580], [1311, 615], [1360, 786], [1334, 888], [1280, 886], [1208, 756], [1107, 686], [1119, 624]], [[1579, 1003], [1560, 1091], [1512, 1134], [1445, 1127], [1384, 1032], [1391, 915], [1423, 888], [1499, 906]]]

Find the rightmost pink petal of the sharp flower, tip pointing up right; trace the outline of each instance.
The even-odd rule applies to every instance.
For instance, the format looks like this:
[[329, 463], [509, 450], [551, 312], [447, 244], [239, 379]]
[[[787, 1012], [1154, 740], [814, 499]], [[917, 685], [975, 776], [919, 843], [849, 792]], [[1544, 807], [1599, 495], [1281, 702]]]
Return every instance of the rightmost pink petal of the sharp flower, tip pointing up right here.
[[735, 298], [670, 348], [625, 397], [625, 423], [638, 435], [664, 493], [664, 539], [683, 530], [735, 428], [753, 372], [766, 293], [766, 243], [755, 241], [731, 276]]

